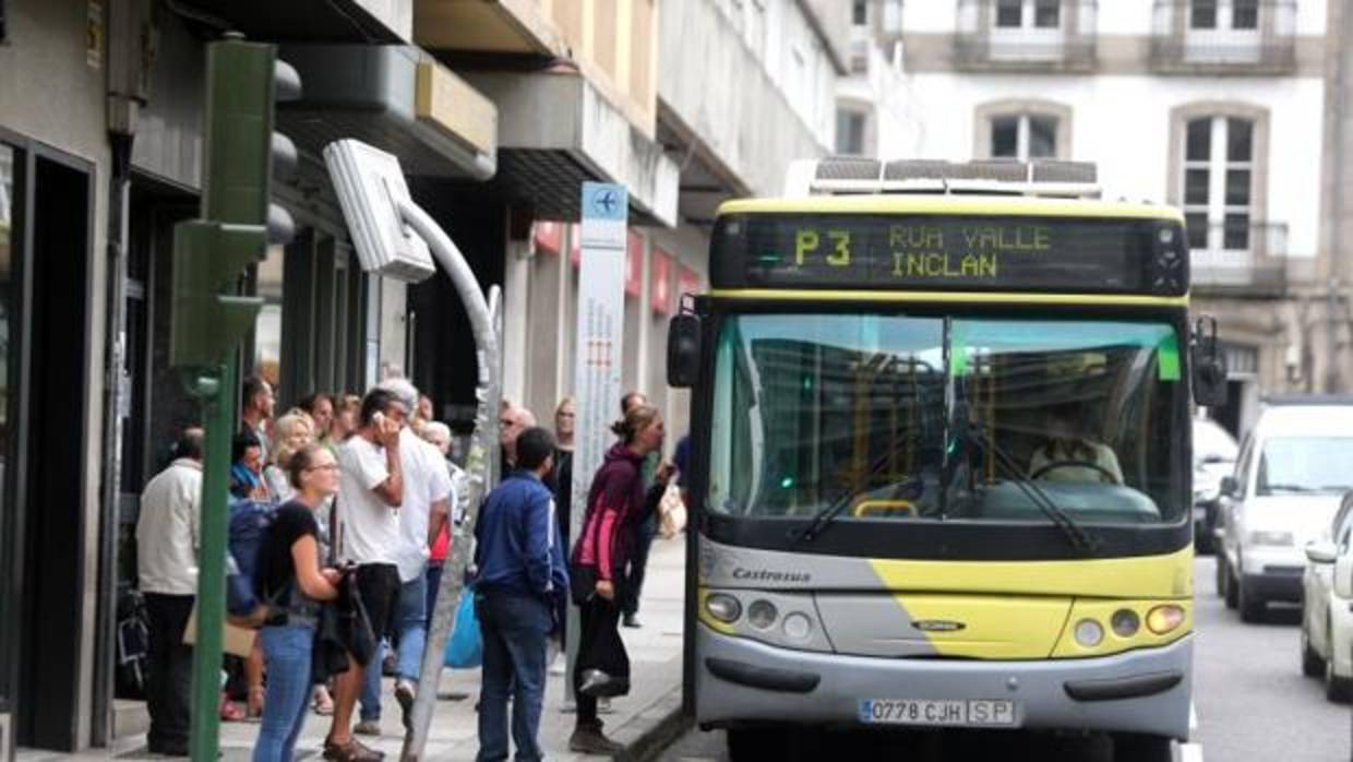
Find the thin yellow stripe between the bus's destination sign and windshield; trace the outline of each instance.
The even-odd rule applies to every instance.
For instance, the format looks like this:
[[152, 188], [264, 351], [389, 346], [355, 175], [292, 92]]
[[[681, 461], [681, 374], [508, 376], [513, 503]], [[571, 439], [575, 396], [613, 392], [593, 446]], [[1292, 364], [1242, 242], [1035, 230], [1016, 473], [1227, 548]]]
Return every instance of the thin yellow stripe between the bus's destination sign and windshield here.
[[778, 302], [908, 302], [977, 305], [1078, 305], [1104, 307], [1188, 307], [1188, 296], [1138, 296], [1131, 294], [1011, 294], [976, 291], [828, 291], [808, 288], [713, 288], [718, 299]]

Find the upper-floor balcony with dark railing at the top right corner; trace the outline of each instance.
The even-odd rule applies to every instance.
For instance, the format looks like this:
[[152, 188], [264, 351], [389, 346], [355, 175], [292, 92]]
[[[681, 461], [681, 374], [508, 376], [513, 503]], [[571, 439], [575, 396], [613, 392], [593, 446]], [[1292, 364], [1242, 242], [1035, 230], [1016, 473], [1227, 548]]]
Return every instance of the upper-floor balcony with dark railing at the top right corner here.
[[1157, 0], [1151, 68], [1180, 74], [1283, 74], [1296, 68], [1293, 0]]

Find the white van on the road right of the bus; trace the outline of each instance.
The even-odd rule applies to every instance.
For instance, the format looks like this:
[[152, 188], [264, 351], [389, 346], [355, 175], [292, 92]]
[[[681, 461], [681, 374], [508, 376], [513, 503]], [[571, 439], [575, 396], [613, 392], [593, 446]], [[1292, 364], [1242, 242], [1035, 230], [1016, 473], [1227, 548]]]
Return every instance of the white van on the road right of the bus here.
[[1298, 604], [1304, 547], [1329, 531], [1353, 489], [1353, 405], [1269, 405], [1222, 480], [1216, 590], [1243, 621]]

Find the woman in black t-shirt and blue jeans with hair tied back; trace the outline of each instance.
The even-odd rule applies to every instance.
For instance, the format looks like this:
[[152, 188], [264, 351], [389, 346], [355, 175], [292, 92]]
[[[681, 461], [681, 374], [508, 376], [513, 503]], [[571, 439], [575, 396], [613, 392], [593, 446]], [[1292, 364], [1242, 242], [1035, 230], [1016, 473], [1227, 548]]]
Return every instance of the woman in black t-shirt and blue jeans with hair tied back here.
[[310, 659], [319, 601], [338, 596], [341, 574], [319, 567], [319, 525], [315, 510], [338, 491], [338, 464], [315, 444], [303, 447], [287, 464], [296, 497], [273, 514], [258, 547], [254, 586], [268, 604], [268, 621], [258, 633], [268, 667], [268, 697], [254, 746], [254, 762], [287, 762], [306, 720]]

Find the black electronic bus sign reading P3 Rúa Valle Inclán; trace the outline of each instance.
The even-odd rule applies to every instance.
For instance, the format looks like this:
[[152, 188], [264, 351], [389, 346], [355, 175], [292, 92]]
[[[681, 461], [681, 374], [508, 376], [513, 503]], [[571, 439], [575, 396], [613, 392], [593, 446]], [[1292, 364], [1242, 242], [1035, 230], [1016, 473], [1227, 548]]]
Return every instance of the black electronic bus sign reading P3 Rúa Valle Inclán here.
[[716, 287], [1183, 294], [1183, 246], [1164, 219], [764, 214], [721, 219], [710, 264]]

